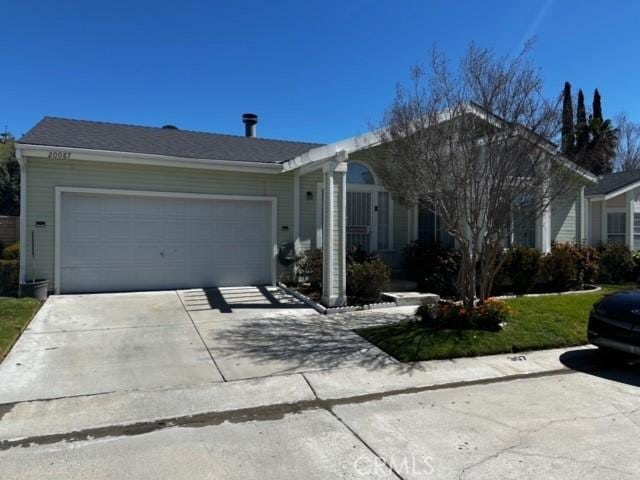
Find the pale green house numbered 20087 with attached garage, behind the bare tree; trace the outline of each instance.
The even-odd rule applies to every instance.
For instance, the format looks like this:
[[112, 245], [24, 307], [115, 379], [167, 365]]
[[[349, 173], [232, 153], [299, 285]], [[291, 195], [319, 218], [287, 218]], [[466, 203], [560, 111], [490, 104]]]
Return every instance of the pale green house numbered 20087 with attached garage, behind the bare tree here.
[[[375, 133], [266, 140], [255, 115], [243, 120], [245, 136], [44, 118], [16, 145], [21, 280], [46, 278], [57, 293], [272, 284], [293, 274], [281, 250], [317, 247], [323, 301], [335, 305], [346, 299], [350, 248], [398, 269], [414, 241], [452, 245], [437, 216], [382, 186]], [[520, 222], [513, 241], [543, 251], [581, 241], [584, 204], [576, 187]]]

